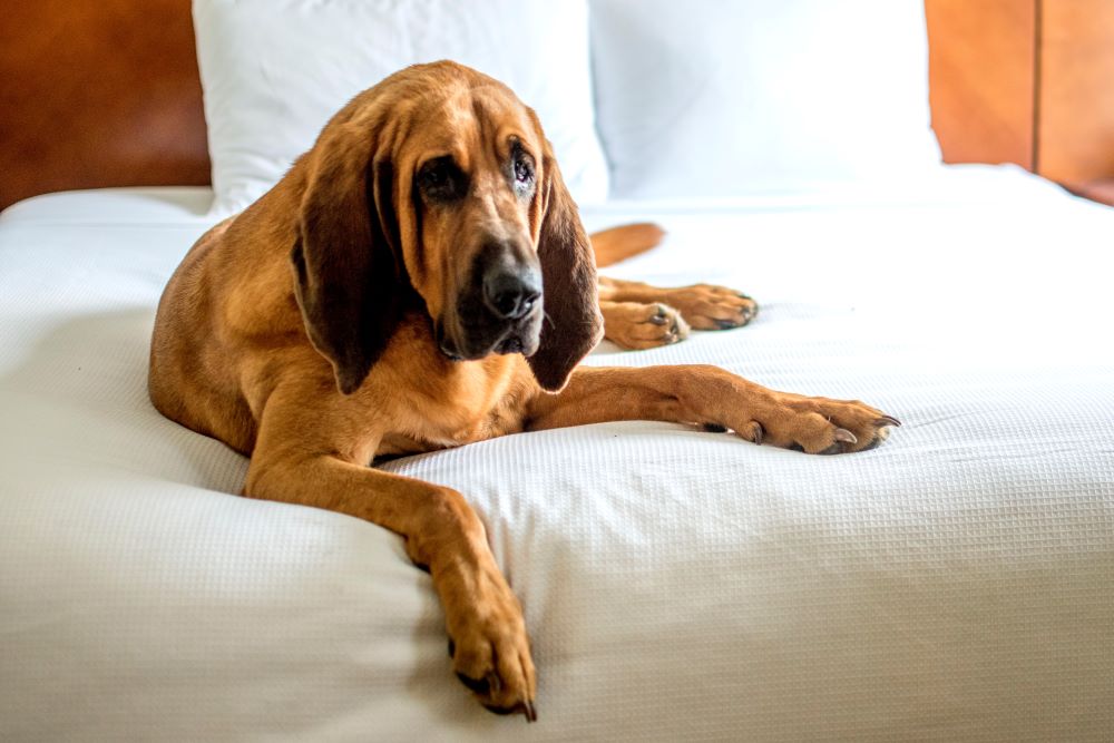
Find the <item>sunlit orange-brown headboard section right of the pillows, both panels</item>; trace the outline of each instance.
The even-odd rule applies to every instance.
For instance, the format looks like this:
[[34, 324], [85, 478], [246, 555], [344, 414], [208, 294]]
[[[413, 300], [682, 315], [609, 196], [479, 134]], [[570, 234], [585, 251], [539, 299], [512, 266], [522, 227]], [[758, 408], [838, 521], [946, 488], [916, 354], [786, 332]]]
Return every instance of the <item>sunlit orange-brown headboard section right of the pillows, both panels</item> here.
[[1114, 2], [926, 0], [926, 10], [947, 162], [1019, 163], [1077, 188], [1114, 177]]

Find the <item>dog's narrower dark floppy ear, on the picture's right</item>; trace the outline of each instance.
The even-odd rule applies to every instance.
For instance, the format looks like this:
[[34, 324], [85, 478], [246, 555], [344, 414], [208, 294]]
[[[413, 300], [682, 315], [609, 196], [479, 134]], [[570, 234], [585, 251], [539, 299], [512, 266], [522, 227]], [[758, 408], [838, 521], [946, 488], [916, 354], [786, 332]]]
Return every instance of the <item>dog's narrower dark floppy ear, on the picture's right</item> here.
[[557, 392], [603, 336], [596, 258], [548, 145], [543, 158], [538, 236], [546, 316], [537, 353], [528, 359], [543, 389]]

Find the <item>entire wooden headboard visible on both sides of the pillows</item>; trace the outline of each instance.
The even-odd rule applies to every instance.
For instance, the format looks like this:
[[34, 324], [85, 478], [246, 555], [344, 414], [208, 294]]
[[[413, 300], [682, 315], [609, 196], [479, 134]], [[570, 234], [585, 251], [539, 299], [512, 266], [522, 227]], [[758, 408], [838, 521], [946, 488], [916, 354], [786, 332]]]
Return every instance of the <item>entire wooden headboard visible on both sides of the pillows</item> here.
[[[926, 0], [950, 163], [1114, 176], [1114, 2]], [[208, 183], [189, 0], [3, 0], [0, 208], [65, 188]]]

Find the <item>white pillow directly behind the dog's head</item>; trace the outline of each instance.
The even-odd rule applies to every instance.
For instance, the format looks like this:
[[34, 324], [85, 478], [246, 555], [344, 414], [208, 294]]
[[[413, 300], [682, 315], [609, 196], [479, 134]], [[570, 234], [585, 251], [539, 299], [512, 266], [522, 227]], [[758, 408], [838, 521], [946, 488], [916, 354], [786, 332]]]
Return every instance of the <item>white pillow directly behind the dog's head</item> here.
[[214, 214], [247, 206], [355, 94], [453, 59], [506, 82], [541, 118], [569, 190], [607, 196], [584, 0], [194, 0]]

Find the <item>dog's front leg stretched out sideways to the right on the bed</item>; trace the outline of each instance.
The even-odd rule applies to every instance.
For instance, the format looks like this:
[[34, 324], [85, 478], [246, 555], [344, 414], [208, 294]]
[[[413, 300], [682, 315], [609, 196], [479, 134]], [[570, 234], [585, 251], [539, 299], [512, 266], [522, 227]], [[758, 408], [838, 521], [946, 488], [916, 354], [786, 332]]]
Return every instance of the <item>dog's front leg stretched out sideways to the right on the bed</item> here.
[[755, 443], [833, 454], [878, 446], [898, 421], [858, 400], [776, 392], [719, 366], [579, 366], [557, 394], [539, 393], [528, 430], [658, 420], [733, 430]]

